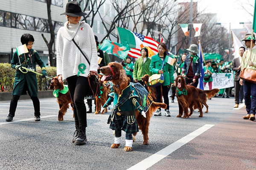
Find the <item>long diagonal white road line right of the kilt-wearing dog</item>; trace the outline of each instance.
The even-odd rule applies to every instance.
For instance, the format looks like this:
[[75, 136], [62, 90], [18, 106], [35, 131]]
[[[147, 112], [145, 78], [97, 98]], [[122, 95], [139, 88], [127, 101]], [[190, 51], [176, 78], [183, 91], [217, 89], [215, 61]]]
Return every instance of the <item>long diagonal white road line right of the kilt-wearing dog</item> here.
[[146, 170], [152, 165], [156, 164], [158, 161], [164, 159], [166, 156], [173, 153], [175, 150], [182, 147], [184, 144], [188, 143], [195, 137], [201, 135], [209, 128], [213, 127], [214, 125], [204, 125], [199, 129], [195, 130], [192, 133], [189, 133], [187, 136], [177, 140], [176, 142], [170, 144], [169, 146], [163, 148], [162, 150], [158, 151], [157, 153], [149, 156], [148, 158], [140, 161], [139, 163], [135, 164], [134, 166], [130, 167], [128, 170]]

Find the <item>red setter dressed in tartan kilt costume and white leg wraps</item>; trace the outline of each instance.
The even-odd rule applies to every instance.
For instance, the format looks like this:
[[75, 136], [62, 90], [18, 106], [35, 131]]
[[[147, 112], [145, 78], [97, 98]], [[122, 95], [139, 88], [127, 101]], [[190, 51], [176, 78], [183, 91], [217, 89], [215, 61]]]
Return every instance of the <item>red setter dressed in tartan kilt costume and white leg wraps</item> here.
[[113, 110], [108, 118], [110, 128], [115, 130], [114, 143], [111, 148], [118, 148], [121, 143], [121, 131], [125, 131], [125, 151], [132, 150], [133, 136], [139, 129], [143, 133], [143, 144], [148, 142], [149, 121], [158, 108], [166, 108], [166, 104], [154, 102], [148, 91], [140, 83], [130, 83], [122, 65], [110, 62], [100, 68], [104, 76], [101, 81], [112, 81], [113, 88], [108, 101], [102, 109], [113, 102]]

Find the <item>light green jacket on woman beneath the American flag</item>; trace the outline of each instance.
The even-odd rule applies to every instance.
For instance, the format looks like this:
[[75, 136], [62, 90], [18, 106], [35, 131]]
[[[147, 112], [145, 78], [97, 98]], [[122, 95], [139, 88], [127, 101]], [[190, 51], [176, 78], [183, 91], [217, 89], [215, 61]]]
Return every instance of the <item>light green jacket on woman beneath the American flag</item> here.
[[136, 60], [134, 64], [134, 79], [141, 80], [145, 74], [151, 76], [151, 72], [149, 70], [151, 59], [147, 57], [145, 63], [143, 61], [143, 57], [140, 57]]

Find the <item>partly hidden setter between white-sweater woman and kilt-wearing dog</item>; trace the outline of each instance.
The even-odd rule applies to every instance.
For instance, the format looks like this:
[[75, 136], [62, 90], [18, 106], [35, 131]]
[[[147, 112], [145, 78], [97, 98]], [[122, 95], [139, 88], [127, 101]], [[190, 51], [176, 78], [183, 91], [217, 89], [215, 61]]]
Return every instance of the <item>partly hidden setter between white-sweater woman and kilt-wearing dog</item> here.
[[[100, 80], [102, 78], [102, 75], [98, 74], [98, 76], [99, 76], [99, 85], [101, 85], [102, 94], [101, 94], [100, 97], [96, 96], [96, 111], [95, 111], [94, 114], [99, 114], [100, 113], [100, 110], [101, 110], [102, 106], [108, 100], [108, 94], [110, 92], [110, 89], [109, 89], [110, 85], [105, 85], [105, 83]], [[105, 112], [106, 113], [108, 112], [107, 108], [105, 108], [105, 110], [102, 111], [102, 114], [104, 114]]]

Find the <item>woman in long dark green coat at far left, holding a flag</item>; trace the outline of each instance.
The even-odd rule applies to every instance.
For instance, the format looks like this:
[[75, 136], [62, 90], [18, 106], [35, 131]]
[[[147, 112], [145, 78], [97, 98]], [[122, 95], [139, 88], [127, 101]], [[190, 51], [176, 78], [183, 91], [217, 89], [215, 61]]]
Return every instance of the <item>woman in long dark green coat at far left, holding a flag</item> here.
[[12, 91], [12, 99], [10, 102], [9, 115], [6, 122], [11, 122], [15, 116], [18, 100], [20, 96], [28, 92], [34, 105], [35, 121], [40, 121], [40, 102], [38, 99], [38, 81], [36, 74], [26, 71], [23, 67], [35, 71], [35, 63], [42, 69], [42, 77], [47, 76], [47, 71], [44, 66], [43, 60], [40, 58], [37, 51], [32, 49], [34, 44], [34, 37], [31, 34], [23, 34], [20, 38], [23, 45], [17, 48], [14, 52], [11, 67], [16, 69], [15, 80]]

